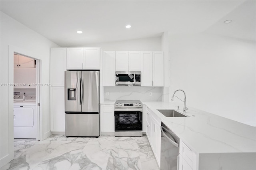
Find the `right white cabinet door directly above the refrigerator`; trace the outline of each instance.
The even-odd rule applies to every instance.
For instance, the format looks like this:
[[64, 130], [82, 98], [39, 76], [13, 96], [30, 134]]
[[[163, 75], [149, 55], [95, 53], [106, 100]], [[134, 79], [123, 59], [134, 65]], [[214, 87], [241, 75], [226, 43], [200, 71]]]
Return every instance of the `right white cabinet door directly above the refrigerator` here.
[[100, 69], [100, 48], [84, 48], [83, 69]]

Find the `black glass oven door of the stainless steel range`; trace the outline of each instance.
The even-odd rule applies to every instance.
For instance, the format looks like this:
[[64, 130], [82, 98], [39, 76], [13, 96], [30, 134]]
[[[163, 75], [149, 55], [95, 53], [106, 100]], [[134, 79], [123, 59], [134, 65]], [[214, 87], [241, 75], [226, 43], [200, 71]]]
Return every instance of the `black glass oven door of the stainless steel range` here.
[[142, 131], [142, 109], [116, 109], [115, 131]]

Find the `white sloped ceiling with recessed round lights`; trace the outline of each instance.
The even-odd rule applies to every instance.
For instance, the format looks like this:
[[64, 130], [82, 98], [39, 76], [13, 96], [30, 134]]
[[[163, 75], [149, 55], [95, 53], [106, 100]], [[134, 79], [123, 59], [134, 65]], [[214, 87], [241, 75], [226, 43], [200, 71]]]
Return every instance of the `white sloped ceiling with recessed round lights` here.
[[[61, 47], [156, 37], [165, 31], [228, 33], [255, 41], [255, 1], [1, 0], [0, 6], [2, 12]], [[234, 20], [229, 25], [233, 32], [223, 19]], [[126, 24], [132, 28], [125, 28]]]

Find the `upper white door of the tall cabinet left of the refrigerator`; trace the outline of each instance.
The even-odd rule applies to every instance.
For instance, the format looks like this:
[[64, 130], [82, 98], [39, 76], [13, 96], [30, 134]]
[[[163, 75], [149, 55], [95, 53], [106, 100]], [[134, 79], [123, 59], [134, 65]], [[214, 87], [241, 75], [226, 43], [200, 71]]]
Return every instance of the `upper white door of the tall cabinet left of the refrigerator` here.
[[64, 86], [66, 55], [66, 48], [50, 49], [50, 83], [52, 84], [52, 86]]

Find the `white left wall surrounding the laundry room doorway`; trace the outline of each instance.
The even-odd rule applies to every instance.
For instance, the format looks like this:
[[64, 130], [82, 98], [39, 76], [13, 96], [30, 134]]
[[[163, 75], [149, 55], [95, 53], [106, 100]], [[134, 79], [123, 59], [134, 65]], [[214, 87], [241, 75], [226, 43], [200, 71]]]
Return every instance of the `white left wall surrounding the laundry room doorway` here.
[[[41, 83], [50, 81], [50, 47], [55, 43], [30, 30], [1, 12], [1, 83], [13, 83], [13, 67], [9, 65], [9, 47], [26, 51], [24, 55], [40, 59], [42, 62]], [[10, 45], [10, 46], [9, 46]], [[16, 52], [19, 52], [16, 51]], [[13, 57], [13, 53], [12, 53]], [[12, 78], [10, 78], [10, 77]], [[10, 81], [9, 81], [10, 78]], [[1, 87], [0, 97], [0, 158], [1, 166], [13, 157], [13, 87]], [[50, 134], [50, 87], [41, 88], [42, 134], [41, 140]]]

